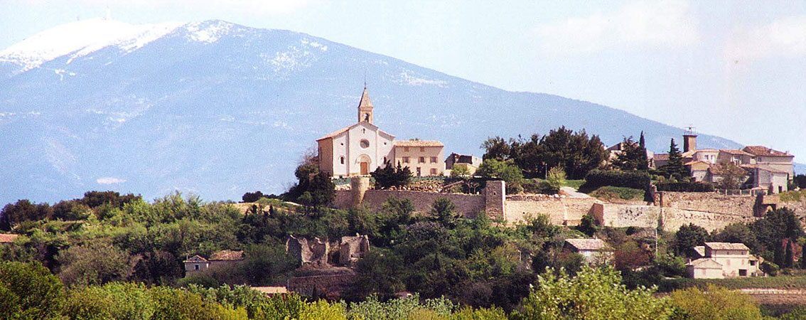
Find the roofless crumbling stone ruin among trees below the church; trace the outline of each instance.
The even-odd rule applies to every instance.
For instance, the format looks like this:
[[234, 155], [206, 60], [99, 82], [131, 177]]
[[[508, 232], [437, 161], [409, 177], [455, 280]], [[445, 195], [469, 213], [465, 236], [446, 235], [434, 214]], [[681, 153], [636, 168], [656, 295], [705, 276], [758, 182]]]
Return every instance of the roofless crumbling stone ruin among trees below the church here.
[[[334, 248], [335, 250], [331, 250]], [[329, 268], [333, 265], [353, 267], [356, 261], [369, 252], [367, 235], [344, 236], [339, 243], [330, 245], [319, 238], [297, 238], [293, 235], [285, 241], [285, 251], [293, 256], [299, 266]], [[334, 259], [328, 259], [333, 256]], [[338, 261], [333, 261], [338, 260]]]

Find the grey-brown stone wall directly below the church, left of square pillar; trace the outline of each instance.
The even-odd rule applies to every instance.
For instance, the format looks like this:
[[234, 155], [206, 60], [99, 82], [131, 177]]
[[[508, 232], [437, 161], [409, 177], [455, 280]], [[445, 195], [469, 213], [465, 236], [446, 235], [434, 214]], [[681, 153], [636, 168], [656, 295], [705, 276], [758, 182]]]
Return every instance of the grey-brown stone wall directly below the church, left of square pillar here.
[[[364, 205], [369, 209], [378, 210], [384, 205], [388, 197], [409, 199], [414, 210], [421, 214], [431, 211], [431, 205], [440, 197], [446, 197], [456, 206], [456, 211], [467, 218], [475, 218], [479, 212], [484, 211], [484, 195], [463, 193], [430, 193], [400, 190], [367, 190], [364, 193]], [[336, 191], [334, 207], [348, 209], [351, 207], [351, 191]]]

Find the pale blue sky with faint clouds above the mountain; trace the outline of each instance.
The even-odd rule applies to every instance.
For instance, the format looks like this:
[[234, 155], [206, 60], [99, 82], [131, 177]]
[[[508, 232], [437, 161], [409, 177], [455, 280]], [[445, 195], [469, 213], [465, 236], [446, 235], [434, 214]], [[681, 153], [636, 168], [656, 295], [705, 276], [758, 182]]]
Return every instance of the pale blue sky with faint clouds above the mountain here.
[[806, 159], [806, 2], [0, 0], [0, 50], [107, 12], [305, 32]]

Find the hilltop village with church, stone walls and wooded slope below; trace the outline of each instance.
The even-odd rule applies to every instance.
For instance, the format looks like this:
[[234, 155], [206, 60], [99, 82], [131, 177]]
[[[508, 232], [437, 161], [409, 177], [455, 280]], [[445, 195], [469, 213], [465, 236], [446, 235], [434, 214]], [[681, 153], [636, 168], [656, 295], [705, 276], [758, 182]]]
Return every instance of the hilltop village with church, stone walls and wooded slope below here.
[[0, 295], [21, 313], [36, 285], [51, 318], [123, 318], [132, 301], [141, 318], [806, 314], [806, 176], [788, 152], [697, 148], [688, 131], [653, 153], [650, 132], [606, 146], [559, 127], [447, 154], [376, 116], [364, 88], [279, 196], [10, 203]]

